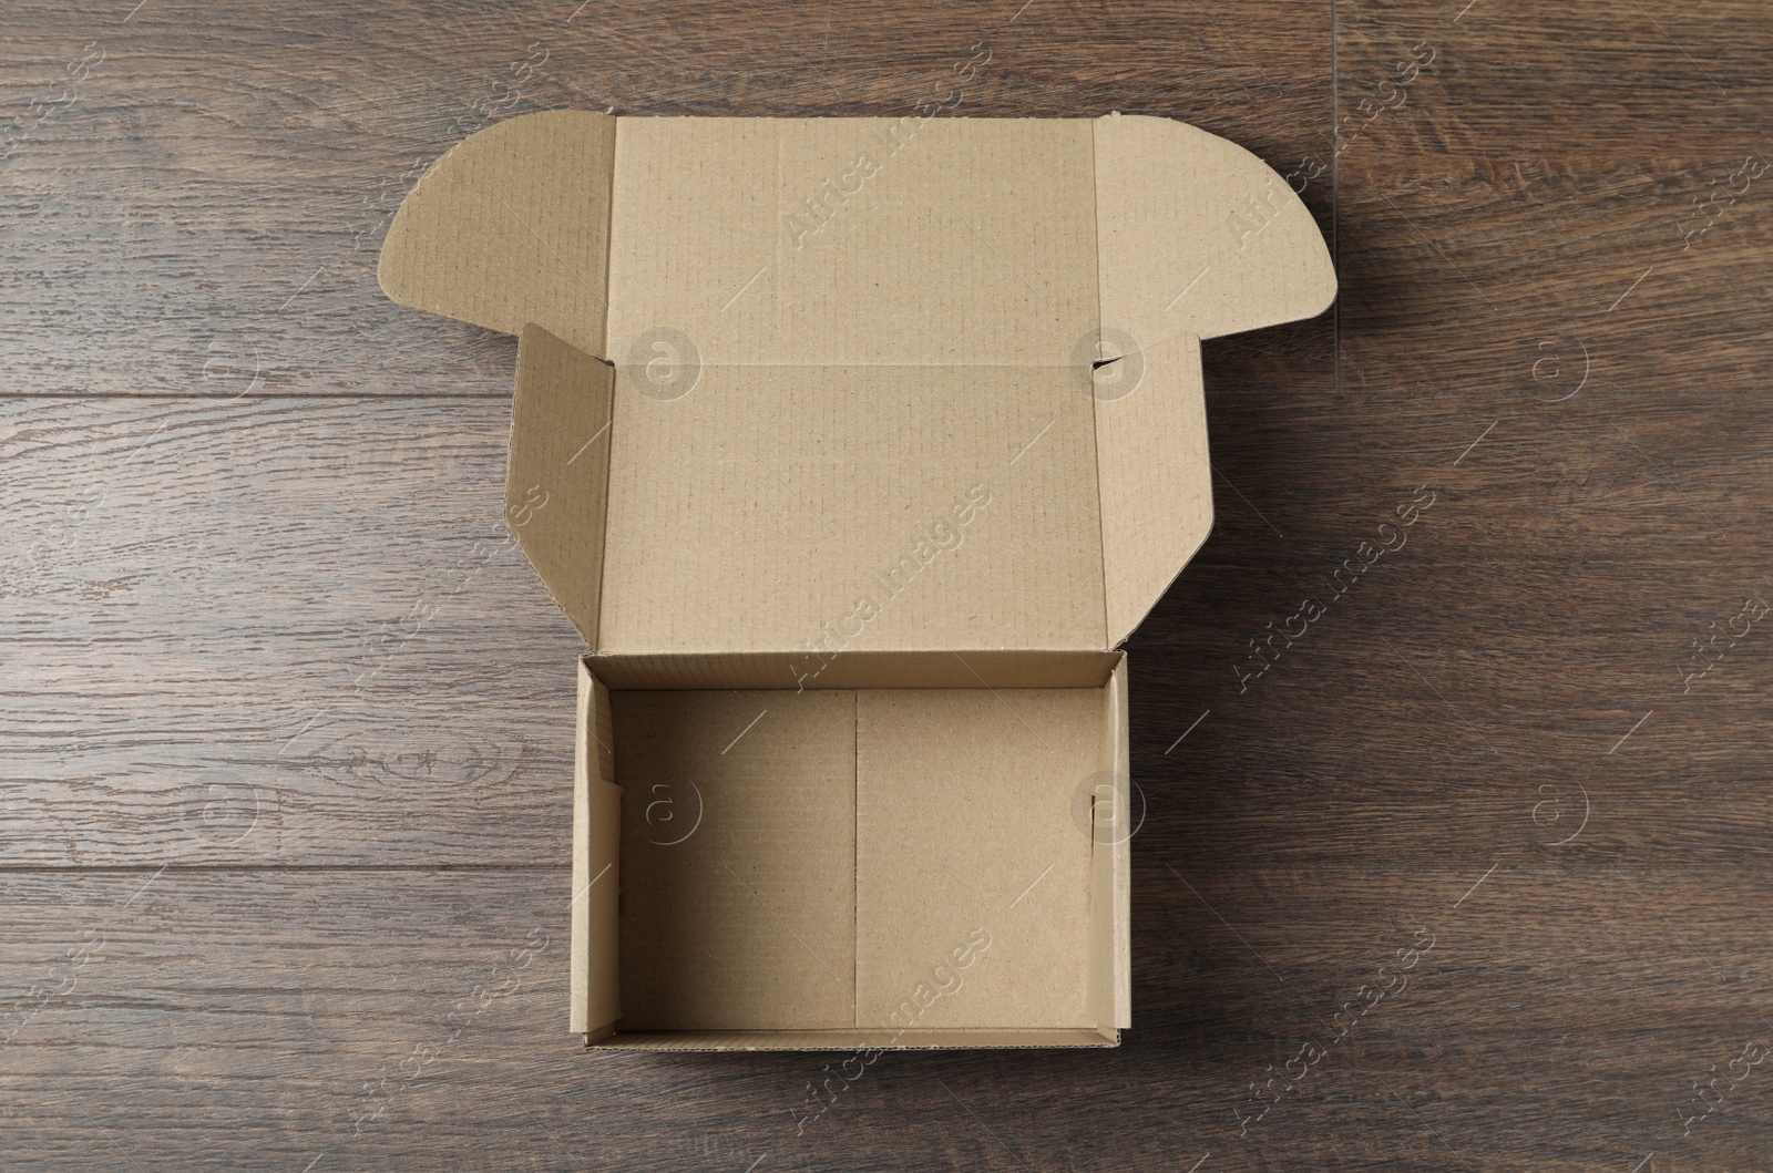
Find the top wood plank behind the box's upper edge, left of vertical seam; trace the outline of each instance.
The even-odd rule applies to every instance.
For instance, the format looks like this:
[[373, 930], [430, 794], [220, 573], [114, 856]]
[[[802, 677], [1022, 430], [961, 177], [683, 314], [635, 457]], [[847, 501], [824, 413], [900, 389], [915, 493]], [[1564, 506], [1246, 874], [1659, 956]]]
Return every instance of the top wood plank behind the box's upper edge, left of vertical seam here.
[[[21, 5], [0, 64], [0, 99], [28, 122], [5, 161], [20, 198], [0, 209], [0, 264], [16, 278], [0, 285], [0, 392], [504, 392], [504, 347], [388, 303], [374, 262], [426, 163], [535, 110], [1128, 110], [1269, 158], [1323, 151], [1316, 5], [1245, 4], [1261, 12], [1248, 30], [1238, 5], [1202, 19], [1144, 0], [1078, 19], [1037, 2], [1051, 11], [1018, 14], [1018, 0], [966, 27], [927, 4], [736, 18], [704, 0], [658, 27], [564, 2], [509, 16], [337, 0], [227, 12], [152, 0], [78, 18]], [[956, 89], [972, 60], [977, 78]], [[1191, 85], [1175, 85], [1177, 62]]]

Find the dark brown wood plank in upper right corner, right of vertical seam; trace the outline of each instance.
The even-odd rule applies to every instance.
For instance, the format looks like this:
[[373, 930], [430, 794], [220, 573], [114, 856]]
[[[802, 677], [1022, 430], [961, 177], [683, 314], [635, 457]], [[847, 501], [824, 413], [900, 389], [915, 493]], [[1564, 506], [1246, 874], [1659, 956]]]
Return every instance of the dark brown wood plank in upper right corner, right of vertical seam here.
[[1344, 386], [1553, 399], [1578, 381], [1541, 360], [1578, 342], [1592, 393], [1761, 386], [1773, 28], [1707, 21], [1339, 7]]

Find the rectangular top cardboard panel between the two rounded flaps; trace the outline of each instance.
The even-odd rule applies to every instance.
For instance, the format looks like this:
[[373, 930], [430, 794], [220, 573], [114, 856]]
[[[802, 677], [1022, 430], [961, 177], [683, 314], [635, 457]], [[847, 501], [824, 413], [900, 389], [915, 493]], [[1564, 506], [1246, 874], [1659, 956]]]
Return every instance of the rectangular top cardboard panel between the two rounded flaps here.
[[1085, 119], [624, 117], [617, 144], [617, 363], [670, 328], [711, 369], [1064, 367], [1096, 330]]

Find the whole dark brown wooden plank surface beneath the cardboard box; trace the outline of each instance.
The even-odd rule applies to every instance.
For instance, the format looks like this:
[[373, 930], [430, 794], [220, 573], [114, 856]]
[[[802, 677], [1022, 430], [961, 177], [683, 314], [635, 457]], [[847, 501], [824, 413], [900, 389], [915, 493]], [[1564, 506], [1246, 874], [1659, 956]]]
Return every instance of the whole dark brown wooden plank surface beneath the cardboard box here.
[[[1773, 1168], [1764, 5], [131, 4], [0, 16], [7, 1169]], [[892, 1054], [796, 1136], [828, 1056], [560, 1029], [514, 340], [374, 255], [491, 119], [901, 115], [980, 46], [956, 113], [1296, 175], [1342, 294], [1206, 347], [1126, 1044]]]

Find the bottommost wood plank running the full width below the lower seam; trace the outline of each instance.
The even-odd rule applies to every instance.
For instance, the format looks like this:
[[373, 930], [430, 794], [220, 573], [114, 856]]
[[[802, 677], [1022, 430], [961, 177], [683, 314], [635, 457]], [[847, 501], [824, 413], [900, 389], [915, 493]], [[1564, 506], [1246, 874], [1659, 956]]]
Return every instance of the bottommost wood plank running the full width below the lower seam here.
[[[1310, 1146], [1574, 1169], [1663, 1145], [1686, 1084], [1773, 1031], [1766, 913], [1718, 902], [1716, 875], [1140, 859], [1122, 1049], [888, 1054], [803, 1136], [789, 1109], [842, 1056], [605, 1056], [560, 1031], [560, 870], [5, 874], [9, 1164], [1264, 1168]], [[1764, 875], [1736, 891], [1773, 907]], [[1363, 985], [1394, 990], [1332, 1024]], [[1753, 1161], [1753, 1076], [1677, 1168]]]

